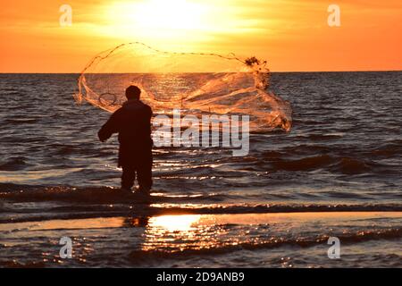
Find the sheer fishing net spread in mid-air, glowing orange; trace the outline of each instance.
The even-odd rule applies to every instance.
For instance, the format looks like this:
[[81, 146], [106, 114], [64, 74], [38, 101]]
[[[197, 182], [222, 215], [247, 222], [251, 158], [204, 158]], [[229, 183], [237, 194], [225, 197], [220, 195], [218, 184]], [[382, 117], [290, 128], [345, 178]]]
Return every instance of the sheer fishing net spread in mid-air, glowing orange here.
[[289, 102], [269, 91], [270, 71], [255, 57], [163, 52], [134, 42], [96, 55], [78, 84], [78, 103], [111, 113], [136, 85], [154, 114], [239, 114], [249, 116], [251, 131], [291, 128]]

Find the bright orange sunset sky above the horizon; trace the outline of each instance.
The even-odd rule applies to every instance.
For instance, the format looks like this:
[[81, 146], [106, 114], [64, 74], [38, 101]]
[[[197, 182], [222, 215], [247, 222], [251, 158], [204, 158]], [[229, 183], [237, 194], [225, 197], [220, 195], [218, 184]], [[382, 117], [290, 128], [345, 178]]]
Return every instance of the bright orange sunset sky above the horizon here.
[[[72, 26], [61, 27], [62, 4]], [[329, 27], [330, 4], [340, 27]], [[13, 0], [0, 9], [0, 72], [80, 72], [142, 41], [172, 51], [256, 55], [272, 71], [402, 70], [400, 0]]]

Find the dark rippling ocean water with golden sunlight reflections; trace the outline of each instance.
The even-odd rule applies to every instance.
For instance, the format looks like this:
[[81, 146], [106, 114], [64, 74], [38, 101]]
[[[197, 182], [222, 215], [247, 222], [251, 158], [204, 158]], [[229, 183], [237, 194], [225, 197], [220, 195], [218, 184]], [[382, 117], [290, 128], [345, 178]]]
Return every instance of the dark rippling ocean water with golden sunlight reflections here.
[[119, 193], [78, 76], [0, 75], [0, 266], [402, 266], [402, 72], [272, 74], [292, 130], [244, 157], [155, 147], [152, 204]]

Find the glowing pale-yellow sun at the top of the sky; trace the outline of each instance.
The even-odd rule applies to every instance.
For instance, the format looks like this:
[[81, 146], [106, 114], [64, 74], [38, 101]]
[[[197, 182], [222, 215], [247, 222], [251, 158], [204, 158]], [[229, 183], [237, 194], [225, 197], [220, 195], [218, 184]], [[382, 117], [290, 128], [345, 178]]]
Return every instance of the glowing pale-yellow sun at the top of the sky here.
[[115, 2], [106, 7], [115, 36], [190, 39], [205, 28], [208, 7], [186, 0]]

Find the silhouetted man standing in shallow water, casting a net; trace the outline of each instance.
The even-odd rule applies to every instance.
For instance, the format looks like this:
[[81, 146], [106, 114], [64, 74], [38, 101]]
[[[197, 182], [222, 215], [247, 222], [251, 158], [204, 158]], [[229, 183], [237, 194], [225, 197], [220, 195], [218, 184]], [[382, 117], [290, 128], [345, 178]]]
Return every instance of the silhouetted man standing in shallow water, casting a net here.
[[149, 196], [152, 187], [152, 109], [139, 100], [141, 89], [130, 86], [126, 89], [128, 99], [99, 130], [102, 142], [113, 133], [119, 133], [119, 164], [122, 168], [121, 190], [131, 191], [138, 180], [138, 194]]

